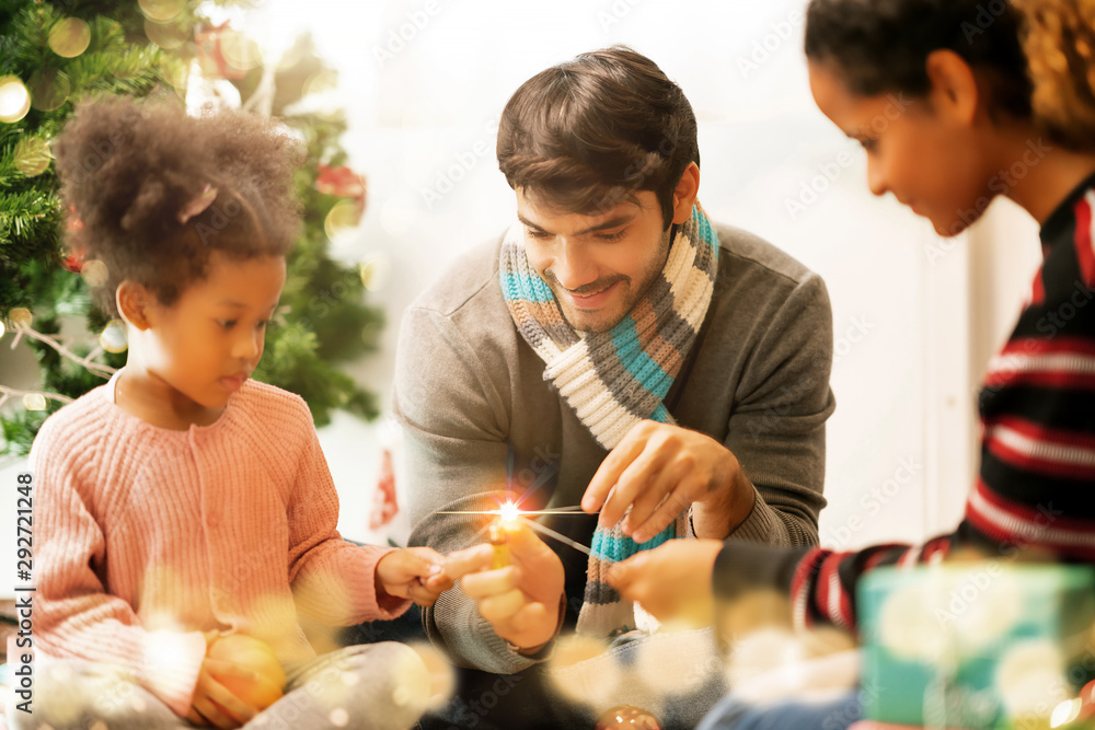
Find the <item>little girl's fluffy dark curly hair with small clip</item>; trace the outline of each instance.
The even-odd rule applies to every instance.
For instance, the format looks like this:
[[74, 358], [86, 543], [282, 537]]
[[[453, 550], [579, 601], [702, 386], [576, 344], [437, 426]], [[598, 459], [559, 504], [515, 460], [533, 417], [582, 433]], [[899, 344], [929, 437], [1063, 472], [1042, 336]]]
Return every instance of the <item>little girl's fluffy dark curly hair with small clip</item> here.
[[[115, 291], [127, 279], [170, 306], [206, 276], [211, 252], [284, 256], [297, 239], [292, 172], [303, 152], [269, 119], [191, 117], [174, 105], [103, 97], [79, 106], [54, 154], [69, 247], [106, 265], [94, 294], [115, 316]], [[208, 208], [183, 220], [214, 193]]]

